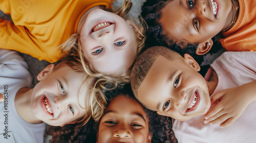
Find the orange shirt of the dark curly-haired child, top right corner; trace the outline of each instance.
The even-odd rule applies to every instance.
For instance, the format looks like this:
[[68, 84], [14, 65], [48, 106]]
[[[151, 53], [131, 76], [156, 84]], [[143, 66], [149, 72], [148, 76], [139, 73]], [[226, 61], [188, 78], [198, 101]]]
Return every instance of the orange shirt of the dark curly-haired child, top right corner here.
[[256, 51], [256, 1], [239, 0], [236, 23], [220, 39], [226, 51]]

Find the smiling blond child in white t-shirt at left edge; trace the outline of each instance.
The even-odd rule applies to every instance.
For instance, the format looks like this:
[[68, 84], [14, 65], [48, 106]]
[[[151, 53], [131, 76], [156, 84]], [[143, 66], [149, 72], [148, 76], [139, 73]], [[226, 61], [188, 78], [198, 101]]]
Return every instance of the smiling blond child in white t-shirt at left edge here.
[[47, 66], [37, 76], [39, 83], [29, 88], [32, 77], [24, 59], [0, 49], [0, 142], [43, 142], [46, 124], [86, 124], [92, 116], [89, 105], [97, 105], [86, 96], [92, 79], [69, 58]]

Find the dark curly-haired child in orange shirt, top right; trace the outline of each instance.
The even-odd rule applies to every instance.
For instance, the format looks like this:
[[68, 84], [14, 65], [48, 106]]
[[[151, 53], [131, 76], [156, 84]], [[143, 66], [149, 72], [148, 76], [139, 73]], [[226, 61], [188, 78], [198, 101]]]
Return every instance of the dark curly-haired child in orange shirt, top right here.
[[149, 27], [146, 44], [189, 53], [201, 63], [200, 55], [210, 51], [212, 37], [220, 33], [226, 51], [255, 51], [255, 4], [244, 0], [147, 1], [141, 13]]

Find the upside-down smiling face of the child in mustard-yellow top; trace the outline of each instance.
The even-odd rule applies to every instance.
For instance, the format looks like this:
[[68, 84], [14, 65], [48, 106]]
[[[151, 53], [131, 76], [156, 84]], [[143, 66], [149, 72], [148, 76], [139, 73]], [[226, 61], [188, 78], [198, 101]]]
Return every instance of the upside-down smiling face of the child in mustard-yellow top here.
[[134, 62], [137, 46], [133, 23], [114, 13], [91, 11], [80, 40], [84, 55], [100, 73], [118, 75]]

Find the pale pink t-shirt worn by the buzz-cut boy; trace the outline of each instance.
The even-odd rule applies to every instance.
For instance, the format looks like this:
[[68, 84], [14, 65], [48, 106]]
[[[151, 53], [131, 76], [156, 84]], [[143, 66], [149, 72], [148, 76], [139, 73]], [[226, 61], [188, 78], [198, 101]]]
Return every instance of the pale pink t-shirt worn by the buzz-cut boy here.
[[[214, 95], [222, 89], [256, 80], [256, 52], [225, 52], [211, 67], [219, 80], [212, 93]], [[204, 115], [200, 115], [185, 122], [174, 121], [173, 131], [178, 142], [256, 142], [256, 101], [250, 103], [241, 116], [226, 128], [220, 128], [220, 124], [204, 124], [203, 120]]]

